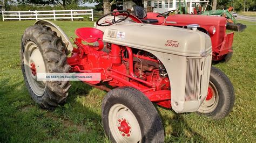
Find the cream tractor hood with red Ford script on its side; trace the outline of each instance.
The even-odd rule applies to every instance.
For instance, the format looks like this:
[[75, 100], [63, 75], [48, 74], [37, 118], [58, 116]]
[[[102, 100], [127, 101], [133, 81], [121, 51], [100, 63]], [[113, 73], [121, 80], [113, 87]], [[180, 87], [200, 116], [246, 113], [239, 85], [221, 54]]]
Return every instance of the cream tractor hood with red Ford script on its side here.
[[212, 52], [207, 34], [172, 26], [118, 23], [106, 28], [103, 41], [181, 56], [206, 56]]

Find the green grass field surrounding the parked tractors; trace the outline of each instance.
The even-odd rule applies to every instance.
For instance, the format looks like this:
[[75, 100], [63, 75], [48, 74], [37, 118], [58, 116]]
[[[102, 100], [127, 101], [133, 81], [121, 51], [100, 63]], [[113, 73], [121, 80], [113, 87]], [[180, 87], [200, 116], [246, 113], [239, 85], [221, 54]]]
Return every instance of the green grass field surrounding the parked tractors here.
[[[101, 102], [106, 94], [82, 82], [72, 82], [64, 106], [43, 110], [26, 90], [19, 60], [21, 36], [33, 21], [0, 22], [0, 142], [108, 142], [101, 123]], [[230, 62], [215, 65], [223, 70], [235, 89], [233, 111], [215, 121], [196, 113], [177, 114], [158, 107], [166, 142], [256, 141], [256, 25], [247, 24], [234, 34]], [[93, 22], [56, 22], [75, 37], [78, 27]]]

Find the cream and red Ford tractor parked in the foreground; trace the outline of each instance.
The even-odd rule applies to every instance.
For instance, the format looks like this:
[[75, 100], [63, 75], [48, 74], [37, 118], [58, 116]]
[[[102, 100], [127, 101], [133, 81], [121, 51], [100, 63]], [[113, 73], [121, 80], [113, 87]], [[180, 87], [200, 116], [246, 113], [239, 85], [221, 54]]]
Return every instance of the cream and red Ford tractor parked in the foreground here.
[[82, 82], [109, 91], [102, 103], [102, 122], [114, 142], [163, 142], [163, 125], [153, 103], [212, 119], [231, 112], [233, 85], [221, 70], [211, 66], [207, 34], [132, 23], [126, 21], [130, 16], [126, 14], [97, 20], [97, 26], [105, 26], [104, 31], [77, 28], [76, 47], [47, 20], [26, 28], [21, 67], [33, 101], [42, 108], [54, 108], [65, 102], [70, 88], [69, 81], [38, 81], [39, 73], [100, 73], [99, 81]]

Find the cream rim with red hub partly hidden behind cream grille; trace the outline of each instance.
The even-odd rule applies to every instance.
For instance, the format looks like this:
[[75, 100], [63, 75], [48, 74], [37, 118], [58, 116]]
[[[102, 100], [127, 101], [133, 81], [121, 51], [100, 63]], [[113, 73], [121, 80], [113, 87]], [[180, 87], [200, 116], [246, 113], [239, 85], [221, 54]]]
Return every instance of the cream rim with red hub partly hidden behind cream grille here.
[[205, 101], [203, 102], [203, 104], [201, 104], [198, 111], [201, 113], [210, 113], [217, 108], [218, 103], [219, 103], [218, 90], [215, 87], [215, 85], [210, 81], [209, 87], [208, 87], [208, 95]]

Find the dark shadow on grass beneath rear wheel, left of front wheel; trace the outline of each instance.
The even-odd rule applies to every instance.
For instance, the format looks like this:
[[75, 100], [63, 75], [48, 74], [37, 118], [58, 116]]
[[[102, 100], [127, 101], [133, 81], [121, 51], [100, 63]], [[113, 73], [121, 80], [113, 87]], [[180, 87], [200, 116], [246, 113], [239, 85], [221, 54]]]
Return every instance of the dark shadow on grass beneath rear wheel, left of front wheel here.
[[45, 110], [32, 101], [23, 79], [4, 78], [0, 85], [0, 142], [105, 140], [98, 110], [79, 104], [92, 87], [74, 82], [65, 105]]

